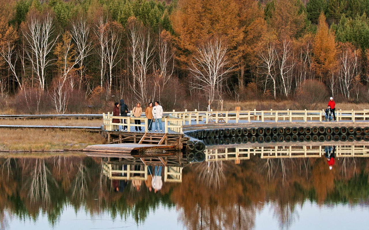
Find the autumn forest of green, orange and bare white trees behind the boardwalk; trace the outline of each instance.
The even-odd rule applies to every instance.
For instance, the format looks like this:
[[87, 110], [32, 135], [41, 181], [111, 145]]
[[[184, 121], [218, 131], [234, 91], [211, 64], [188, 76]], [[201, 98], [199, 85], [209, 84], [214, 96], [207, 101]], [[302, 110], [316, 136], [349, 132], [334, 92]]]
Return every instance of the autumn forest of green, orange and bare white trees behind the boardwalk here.
[[0, 111], [365, 103], [368, 11], [368, 0], [0, 0]]

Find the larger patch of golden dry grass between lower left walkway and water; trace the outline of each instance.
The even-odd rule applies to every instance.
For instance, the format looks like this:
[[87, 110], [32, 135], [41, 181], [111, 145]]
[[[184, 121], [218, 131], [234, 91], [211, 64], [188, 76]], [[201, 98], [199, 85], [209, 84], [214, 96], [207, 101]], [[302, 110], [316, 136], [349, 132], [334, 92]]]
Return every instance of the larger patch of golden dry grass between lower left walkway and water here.
[[85, 131], [3, 129], [0, 133], [0, 151], [82, 150], [88, 145], [104, 143], [100, 134]]

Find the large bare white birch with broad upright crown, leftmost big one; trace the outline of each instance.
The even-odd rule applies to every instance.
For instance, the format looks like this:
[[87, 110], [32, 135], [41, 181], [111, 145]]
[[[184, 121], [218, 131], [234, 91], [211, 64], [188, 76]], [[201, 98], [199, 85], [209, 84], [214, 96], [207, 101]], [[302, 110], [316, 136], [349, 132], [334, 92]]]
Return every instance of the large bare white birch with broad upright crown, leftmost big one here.
[[55, 46], [59, 35], [54, 36], [53, 19], [49, 13], [37, 15], [31, 13], [24, 23], [22, 34], [27, 42], [27, 59], [36, 74], [37, 81], [42, 91], [45, 89], [45, 69], [51, 64], [49, 53]]

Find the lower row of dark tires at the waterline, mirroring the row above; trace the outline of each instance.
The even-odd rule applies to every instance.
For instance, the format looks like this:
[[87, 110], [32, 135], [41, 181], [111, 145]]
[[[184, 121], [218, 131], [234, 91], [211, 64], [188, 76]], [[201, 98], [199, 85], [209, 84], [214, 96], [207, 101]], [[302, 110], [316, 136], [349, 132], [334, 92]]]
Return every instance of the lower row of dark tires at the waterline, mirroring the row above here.
[[251, 136], [251, 137], [220, 137], [206, 138], [205, 145], [227, 145], [227, 144], [245, 144], [245, 143], [269, 143], [269, 142], [324, 142], [324, 141], [369, 141], [369, 134], [307, 134], [307, 135], [267, 135], [267, 136]]

